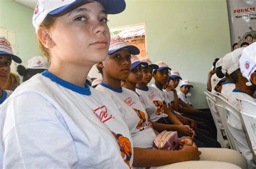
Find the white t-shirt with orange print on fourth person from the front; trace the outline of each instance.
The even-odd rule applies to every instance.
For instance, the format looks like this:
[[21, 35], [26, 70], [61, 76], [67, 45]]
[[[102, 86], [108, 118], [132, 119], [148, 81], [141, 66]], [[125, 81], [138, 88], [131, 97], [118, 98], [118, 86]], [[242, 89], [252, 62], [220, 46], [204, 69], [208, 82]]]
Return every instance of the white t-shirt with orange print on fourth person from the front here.
[[164, 113], [164, 97], [157, 89], [151, 86], [147, 86], [145, 89], [136, 88], [136, 93], [143, 98], [146, 110], [149, 112], [152, 122], [156, 122], [162, 117], [168, 117], [168, 115]]

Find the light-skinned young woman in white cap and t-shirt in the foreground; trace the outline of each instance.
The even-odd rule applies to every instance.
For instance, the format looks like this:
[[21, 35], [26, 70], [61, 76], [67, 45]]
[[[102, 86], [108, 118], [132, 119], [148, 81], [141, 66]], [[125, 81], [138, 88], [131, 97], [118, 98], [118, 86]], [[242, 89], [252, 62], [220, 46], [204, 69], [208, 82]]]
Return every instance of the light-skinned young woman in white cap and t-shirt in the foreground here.
[[33, 25], [51, 65], [1, 106], [1, 167], [132, 167], [131, 135], [117, 107], [85, 85], [109, 49], [107, 14], [124, 9], [122, 0], [38, 1]]

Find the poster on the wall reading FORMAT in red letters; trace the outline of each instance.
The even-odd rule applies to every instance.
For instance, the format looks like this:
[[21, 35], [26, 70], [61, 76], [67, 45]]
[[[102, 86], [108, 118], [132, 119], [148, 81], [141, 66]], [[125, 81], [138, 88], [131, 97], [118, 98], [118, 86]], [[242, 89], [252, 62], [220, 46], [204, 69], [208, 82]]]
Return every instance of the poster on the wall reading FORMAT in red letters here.
[[256, 1], [227, 0], [232, 51], [256, 41]]

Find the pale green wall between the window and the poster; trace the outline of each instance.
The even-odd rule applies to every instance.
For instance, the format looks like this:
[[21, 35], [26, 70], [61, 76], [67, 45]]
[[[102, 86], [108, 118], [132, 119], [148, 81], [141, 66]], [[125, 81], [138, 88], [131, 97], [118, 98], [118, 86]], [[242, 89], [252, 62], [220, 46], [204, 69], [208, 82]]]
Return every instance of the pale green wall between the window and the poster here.
[[[109, 16], [109, 27], [146, 25], [146, 51], [194, 85], [191, 102], [206, 108], [207, 74], [216, 57], [230, 52], [225, 0], [126, 0], [126, 9]], [[152, 80], [153, 82], [153, 80]]]

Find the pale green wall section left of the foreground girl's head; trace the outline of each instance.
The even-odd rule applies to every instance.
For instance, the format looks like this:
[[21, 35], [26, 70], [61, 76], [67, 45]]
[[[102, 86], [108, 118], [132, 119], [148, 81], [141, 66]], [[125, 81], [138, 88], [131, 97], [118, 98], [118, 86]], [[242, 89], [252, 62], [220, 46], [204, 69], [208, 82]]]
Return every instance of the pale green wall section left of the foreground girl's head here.
[[42, 55], [37, 47], [32, 16], [33, 9], [14, 0], [0, 0], [0, 27], [15, 31], [16, 54], [21, 57], [24, 66], [30, 58]]

